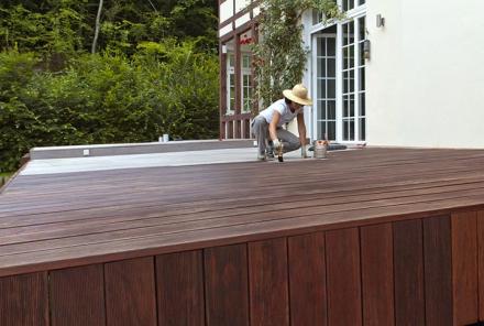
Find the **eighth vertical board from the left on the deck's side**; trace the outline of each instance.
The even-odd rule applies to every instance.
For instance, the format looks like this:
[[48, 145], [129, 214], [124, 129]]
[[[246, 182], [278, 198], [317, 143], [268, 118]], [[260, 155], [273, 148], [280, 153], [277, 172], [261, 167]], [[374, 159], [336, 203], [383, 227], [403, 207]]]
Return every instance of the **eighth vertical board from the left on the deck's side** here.
[[362, 325], [359, 229], [326, 233], [328, 324]]

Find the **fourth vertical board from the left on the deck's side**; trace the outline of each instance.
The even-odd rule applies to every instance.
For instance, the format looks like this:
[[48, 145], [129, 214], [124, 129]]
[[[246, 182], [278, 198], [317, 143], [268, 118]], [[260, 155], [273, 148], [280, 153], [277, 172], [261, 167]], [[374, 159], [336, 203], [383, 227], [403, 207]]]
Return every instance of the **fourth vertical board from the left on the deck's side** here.
[[205, 325], [202, 251], [156, 257], [158, 323]]

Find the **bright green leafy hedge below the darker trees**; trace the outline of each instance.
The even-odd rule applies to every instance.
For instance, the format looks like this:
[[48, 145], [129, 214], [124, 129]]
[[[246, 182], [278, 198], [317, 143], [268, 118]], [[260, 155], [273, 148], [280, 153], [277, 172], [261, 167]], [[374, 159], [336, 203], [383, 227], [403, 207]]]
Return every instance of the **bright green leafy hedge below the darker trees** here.
[[132, 58], [85, 54], [63, 74], [35, 70], [33, 54], [1, 53], [0, 169], [13, 171], [33, 146], [217, 138], [218, 57], [195, 48], [169, 40]]

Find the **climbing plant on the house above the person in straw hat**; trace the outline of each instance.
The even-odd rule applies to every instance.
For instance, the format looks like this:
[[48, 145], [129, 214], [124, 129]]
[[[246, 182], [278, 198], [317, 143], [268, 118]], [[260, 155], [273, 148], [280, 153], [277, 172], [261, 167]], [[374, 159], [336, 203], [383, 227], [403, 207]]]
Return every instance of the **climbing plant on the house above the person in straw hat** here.
[[261, 8], [261, 37], [253, 46], [258, 85], [254, 100], [270, 104], [302, 79], [308, 54], [302, 44], [302, 12], [319, 10], [326, 20], [342, 14], [333, 0], [262, 0]]

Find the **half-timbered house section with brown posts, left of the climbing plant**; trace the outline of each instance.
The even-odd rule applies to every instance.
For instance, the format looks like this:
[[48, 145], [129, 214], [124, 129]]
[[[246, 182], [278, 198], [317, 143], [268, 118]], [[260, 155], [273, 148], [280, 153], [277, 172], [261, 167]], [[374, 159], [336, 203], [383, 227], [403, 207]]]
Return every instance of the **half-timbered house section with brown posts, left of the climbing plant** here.
[[256, 0], [219, 1], [221, 139], [251, 138], [251, 43], [257, 34], [256, 4]]

